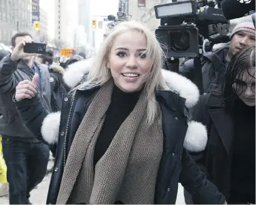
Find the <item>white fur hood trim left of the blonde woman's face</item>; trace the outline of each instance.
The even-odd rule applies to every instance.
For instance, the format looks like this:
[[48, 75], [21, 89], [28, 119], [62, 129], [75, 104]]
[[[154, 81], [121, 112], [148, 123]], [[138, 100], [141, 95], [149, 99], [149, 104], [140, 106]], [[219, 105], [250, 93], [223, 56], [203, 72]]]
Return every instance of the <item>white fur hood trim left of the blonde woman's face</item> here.
[[81, 82], [84, 75], [88, 74], [92, 68], [92, 62], [93, 58], [88, 58], [69, 65], [66, 72], [63, 74], [63, 80], [65, 83], [71, 89], [76, 87]]

